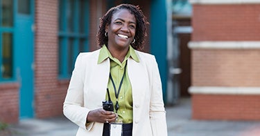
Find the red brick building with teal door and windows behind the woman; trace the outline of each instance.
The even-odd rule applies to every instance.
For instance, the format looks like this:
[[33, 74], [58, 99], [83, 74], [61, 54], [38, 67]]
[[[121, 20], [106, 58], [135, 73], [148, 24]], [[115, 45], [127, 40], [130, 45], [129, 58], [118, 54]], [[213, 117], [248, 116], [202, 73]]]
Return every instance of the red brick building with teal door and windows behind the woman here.
[[99, 48], [99, 18], [119, 3], [139, 5], [148, 17], [144, 51], [157, 57], [165, 88], [166, 48], [157, 49], [166, 46], [166, 1], [1, 0], [0, 122], [62, 115], [76, 56]]

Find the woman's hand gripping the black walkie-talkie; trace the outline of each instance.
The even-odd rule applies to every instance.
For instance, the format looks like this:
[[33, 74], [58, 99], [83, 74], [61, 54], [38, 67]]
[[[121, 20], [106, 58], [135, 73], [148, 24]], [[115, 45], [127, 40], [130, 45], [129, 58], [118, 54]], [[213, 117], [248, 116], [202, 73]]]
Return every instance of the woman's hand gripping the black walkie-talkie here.
[[110, 123], [115, 122], [117, 115], [112, 111], [106, 111], [102, 108], [90, 110], [87, 115], [87, 122]]

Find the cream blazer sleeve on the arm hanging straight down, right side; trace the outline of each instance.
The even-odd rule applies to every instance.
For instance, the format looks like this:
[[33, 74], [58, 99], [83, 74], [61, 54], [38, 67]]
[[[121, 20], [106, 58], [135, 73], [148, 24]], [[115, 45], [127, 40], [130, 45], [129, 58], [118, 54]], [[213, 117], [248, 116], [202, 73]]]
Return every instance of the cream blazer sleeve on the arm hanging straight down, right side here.
[[155, 57], [151, 61], [152, 72], [151, 78], [151, 99], [150, 99], [150, 124], [152, 126], [153, 135], [166, 136], [166, 111], [164, 108], [164, 101], [162, 98], [162, 82], [159, 75], [159, 69]]

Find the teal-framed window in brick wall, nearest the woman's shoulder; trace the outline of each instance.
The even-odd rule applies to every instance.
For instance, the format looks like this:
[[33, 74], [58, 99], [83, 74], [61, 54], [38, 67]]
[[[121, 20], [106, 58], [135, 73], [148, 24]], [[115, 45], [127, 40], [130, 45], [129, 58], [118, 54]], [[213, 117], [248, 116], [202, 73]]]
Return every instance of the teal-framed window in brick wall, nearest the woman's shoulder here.
[[59, 1], [59, 77], [71, 77], [79, 52], [88, 50], [88, 1]]

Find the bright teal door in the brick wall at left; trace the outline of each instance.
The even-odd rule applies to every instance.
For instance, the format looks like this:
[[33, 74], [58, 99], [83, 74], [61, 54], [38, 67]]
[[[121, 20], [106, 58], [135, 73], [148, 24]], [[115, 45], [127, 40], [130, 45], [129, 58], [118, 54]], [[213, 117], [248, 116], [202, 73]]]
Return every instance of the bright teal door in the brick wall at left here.
[[15, 0], [15, 63], [20, 119], [33, 117], [33, 0]]

